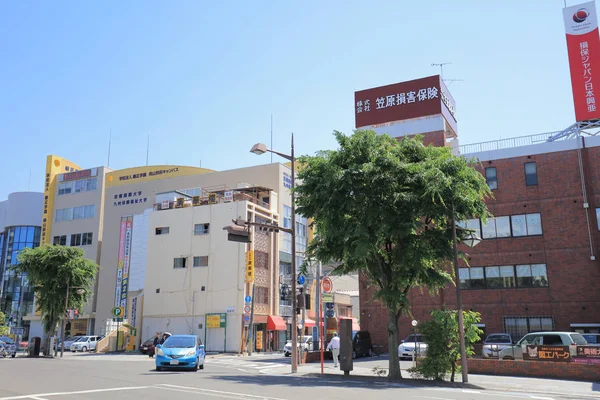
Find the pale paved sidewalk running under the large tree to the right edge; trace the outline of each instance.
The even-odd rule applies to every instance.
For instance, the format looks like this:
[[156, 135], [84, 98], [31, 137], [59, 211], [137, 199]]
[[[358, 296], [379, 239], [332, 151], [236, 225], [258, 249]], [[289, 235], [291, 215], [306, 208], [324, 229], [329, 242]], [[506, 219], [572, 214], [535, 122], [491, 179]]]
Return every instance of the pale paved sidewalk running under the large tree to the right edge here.
[[[386, 367], [387, 369], [387, 367]], [[280, 368], [272, 368], [267, 375], [289, 375], [290, 366], [282, 366]], [[362, 382], [372, 381], [374, 384], [388, 382], [384, 377], [378, 377], [372, 368], [357, 366], [354, 364], [354, 370], [350, 372], [349, 377], [344, 376], [344, 372], [339, 368], [334, 368], [331, 361], [326, 362], [324, 366], [324, 374], [321, 375], [321, 364], [310, 363], [298, 366], [298, 373], [294, 376], [301, 376], [309, 379], [344, 379]], [[455, 377], [456, 382], [433, 382], [412, 379], [407, 370], [402, 370], [401, 382], [389, 382], [390, 385], [407, 385], [407, 386], [443, 386], [443, 387], [463, 387], [461, 376]], [[598, 382], [577, 382], [577, 381], [562, 381], [554, 379], [538, 379], [538, 378], [521, 378], [510, 376], [491, 376], [491, 375], [469, 375], [468, 388], [476, 390], [493, 390], [502, 392], [516, 393], [539, 393], [546, 395], [563, 395], [571, 398], [593, 398], [600, 399], [600, 377]]]

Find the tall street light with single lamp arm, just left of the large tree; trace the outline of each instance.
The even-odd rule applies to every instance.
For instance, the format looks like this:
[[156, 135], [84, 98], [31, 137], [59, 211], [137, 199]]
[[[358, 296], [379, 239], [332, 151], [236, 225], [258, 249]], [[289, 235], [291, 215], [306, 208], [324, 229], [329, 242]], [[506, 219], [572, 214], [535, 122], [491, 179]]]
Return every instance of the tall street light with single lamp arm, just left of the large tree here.
[[290, 155], [268, 149], [267, 145], [263, 143], [257, 143], [252, 146], [250, 152], [256, 155], [262, 155], [266, 152], [277, 154], [292, 163], [292, 373], [296, 373], [298, 371], [298, 316], [296, 315], [296, 205], [294, 196], [294, 188], [296, 187], [296, 168], [294, 159], [294, 134], [292, 133], [292, 150]]

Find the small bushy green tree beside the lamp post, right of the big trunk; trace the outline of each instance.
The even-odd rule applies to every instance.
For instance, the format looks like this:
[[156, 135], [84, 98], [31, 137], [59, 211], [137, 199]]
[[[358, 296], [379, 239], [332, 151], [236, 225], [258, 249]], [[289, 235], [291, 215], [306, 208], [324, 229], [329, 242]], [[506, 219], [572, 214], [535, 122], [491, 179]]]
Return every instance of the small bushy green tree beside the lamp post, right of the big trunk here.
[[[467, 357], [475, 354], [473, 345], [483, 333], [475, 324], [481, 315], [474, 311], [463, 311], [465, 324], [465, 348]], [[414, 371], [426, 379], [443, 380], [450, 373], [450, 381], [460, 369], [460, 340], [458, 335], [458, 312], [456, 310], [434, 310], [431, 319], [423, 324], [421, 332], [427, 338], [427, 355]]]

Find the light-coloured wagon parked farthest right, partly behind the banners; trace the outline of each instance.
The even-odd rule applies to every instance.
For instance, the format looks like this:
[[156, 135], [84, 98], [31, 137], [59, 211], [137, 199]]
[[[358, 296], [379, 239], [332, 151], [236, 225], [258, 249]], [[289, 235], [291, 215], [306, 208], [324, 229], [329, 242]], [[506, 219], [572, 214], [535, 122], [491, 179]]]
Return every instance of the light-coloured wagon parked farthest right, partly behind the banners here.
[[585, 338], [576, 332], [528, 333], [516, 345], [509, 346], [500, 351], [498, 357], [501, 360], [521, 360], [523, 359], [523, 350], [527, 345], [569, 346], [571, 356], [576, 356], [577, 346], [586, 346], [587, 344]]

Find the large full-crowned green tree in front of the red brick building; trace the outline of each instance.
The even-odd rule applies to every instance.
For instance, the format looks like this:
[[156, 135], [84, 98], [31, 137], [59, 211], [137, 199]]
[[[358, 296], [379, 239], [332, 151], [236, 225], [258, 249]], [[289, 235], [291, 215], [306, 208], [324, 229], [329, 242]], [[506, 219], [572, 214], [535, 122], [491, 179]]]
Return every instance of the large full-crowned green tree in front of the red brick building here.
[[[487, 216], [483, 176], [450, 148], [397, 141], [373, 131], [335, 132], [338, 150], [300, 158], [298, 213], [313, 219], [307, 252], [339, 262], [337, 274], [360, 272], [388, 310], [389, 377], [401, 378], [398, 320], [408, 292], [432, 293], [452, 281], [452, 213]], [[460, 231], [459, 235], [464, 235]], [[460, 238], [460, 237], [459, 237]]]

